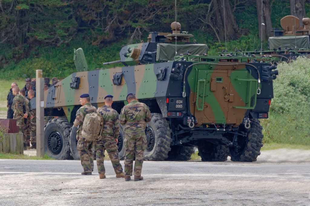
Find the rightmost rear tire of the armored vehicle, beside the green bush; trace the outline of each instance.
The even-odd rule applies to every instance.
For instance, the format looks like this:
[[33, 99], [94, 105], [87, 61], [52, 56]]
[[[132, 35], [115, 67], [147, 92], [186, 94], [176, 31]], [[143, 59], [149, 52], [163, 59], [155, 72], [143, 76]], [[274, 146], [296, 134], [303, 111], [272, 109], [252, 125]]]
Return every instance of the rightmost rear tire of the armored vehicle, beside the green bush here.
[[234, 162], [255, 162], [260, 155], [260, 148], [263, 146], [263, 127], [259, 119], [251, 119], [251, 127], [246, 137], [239, 136], [240, 148], [231, 147], [229, 150], [230, 159]]

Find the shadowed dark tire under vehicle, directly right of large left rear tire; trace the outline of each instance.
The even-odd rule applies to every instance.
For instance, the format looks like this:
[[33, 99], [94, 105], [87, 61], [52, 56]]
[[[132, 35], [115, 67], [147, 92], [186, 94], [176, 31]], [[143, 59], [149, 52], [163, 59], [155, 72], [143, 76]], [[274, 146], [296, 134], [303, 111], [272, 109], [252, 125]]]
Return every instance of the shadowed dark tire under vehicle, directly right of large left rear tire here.
[[192, 159], [194, 147], [186, 147], [181, 145], [171, 146], [171, 151], [168, 152], [168, 161], [187, 161]]

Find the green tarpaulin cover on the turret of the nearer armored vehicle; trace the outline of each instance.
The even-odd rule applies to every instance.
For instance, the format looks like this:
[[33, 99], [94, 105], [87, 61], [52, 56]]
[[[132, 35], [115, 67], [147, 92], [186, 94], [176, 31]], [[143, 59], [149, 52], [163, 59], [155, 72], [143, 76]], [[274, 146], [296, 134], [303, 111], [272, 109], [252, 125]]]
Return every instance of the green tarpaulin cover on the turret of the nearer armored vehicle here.
[[[187, 54], [187, 51], [191, 55], [203, 55], [208, 52], [208, 46], [206, 44], [177, 44], [177, 55]], [[175, 44], [157, 44], [156, 60], [169, 61], [174, 60], [175, 57]]]

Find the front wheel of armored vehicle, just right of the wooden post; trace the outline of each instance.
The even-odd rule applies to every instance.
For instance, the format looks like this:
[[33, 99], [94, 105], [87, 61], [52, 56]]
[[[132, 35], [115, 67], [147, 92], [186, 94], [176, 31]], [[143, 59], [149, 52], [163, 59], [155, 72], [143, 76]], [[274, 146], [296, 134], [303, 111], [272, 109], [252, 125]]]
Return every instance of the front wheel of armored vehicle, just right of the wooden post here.
[[[68, 159], [70, 128], [72, 124], [65, 118], [55, 118], [44, 128], [44, 151], [54, 159]], [[70, 150], [69, 150], [70, 151]], [[68, 156], [69, 154], [69, 156]]]

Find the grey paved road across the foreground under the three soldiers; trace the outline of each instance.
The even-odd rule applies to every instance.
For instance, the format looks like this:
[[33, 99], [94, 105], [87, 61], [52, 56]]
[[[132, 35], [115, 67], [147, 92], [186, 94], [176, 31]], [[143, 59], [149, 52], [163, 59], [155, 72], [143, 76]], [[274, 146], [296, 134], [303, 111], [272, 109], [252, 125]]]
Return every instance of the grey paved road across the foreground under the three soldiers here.
[[[122, 165], [123, 161], [121, 161]], [[0, 160], [0, 205], [310, 205], [309, 163], [150, 162], [143, 181], [105, 161], [84, 176], [74, 160]], [[96, 168], [96, 167], [95, 167]]]

